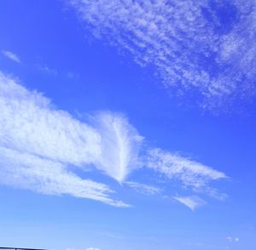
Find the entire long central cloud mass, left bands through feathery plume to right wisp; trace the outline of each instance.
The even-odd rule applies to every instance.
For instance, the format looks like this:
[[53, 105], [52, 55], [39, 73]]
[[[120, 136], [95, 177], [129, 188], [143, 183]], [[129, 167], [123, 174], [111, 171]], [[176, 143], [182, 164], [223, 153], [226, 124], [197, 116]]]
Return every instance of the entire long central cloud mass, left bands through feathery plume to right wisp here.
[[224, 173], [172, 152], [142, 151], [143, 137], [125, 116], [98, 112], [81, 122], [18, 82], [0, 71], [0, 184], [129, 207], [108, 185], [84, 179], [76, 170], [99, 171], [144, 195], [163, 192], [129, 181], [130, 173], [143, 168], [218, 196], [209, 183], [224, 179]]

